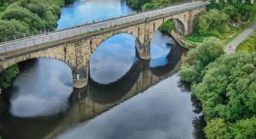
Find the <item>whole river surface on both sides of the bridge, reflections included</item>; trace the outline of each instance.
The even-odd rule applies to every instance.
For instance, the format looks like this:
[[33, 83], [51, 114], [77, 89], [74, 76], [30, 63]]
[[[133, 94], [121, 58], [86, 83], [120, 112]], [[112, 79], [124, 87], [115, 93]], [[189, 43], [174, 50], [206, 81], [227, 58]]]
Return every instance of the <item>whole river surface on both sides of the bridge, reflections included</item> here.
[[[61, 8], [57, 29], [133, 11], [123, 0], [76, 0]], [[19, 64], [3, 96], [0, 136], [38, 139], [204, 138], [199, 103], [177, 76], [185, 51], [160, 31], [151, 59], [136, 56], [134, 36], [110, 37], [90, 57], [90, 81], [73, 89], [72, 71], [55, 59]]]

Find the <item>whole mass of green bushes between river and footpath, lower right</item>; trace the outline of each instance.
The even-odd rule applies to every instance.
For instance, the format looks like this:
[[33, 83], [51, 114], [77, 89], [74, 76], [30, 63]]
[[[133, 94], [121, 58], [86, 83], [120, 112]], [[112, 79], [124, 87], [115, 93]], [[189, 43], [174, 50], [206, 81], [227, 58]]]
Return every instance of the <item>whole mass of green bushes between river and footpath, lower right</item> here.
[[207, 38], [189, 51], [178, 75], [201, 102], [207, 138], [256, 138], [256, 54], [224, 54], [223, 45]]

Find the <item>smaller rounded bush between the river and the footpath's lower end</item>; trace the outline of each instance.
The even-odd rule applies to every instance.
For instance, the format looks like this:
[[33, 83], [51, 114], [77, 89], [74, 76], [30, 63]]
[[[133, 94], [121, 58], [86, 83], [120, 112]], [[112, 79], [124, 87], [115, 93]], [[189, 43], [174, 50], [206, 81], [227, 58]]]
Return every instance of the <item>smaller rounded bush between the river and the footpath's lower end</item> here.
[[199, 47], [189, 51], [178, 75], [182, 81], [201, 82], [206, 66], [223, 53], [223, 44], [217, 38], [207, 38]]

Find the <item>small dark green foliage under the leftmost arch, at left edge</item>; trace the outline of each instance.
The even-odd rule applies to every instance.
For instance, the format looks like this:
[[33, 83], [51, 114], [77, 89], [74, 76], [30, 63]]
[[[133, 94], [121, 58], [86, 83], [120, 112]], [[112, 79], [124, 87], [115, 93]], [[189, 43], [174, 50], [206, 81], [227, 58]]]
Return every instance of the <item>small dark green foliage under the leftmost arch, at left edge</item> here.
[[1, 74], [0, 74], [0, 86], [2, 89], [8, 88], [13, 79], [15, 78], [16, 75], [19, 74], [19, 68], [18, 65], [15, 64], [8, 69], [5, 69]]

